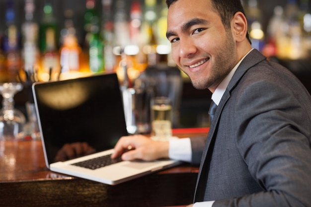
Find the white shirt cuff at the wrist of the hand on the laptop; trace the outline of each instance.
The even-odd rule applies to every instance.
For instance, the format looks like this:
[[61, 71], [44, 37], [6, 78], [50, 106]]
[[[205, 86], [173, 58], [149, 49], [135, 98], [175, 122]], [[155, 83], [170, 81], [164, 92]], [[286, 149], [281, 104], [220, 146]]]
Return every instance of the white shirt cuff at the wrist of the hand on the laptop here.
[[190, 138], [172, 138], [169, 140], [168, 156], [171, 159], [191, 162]]

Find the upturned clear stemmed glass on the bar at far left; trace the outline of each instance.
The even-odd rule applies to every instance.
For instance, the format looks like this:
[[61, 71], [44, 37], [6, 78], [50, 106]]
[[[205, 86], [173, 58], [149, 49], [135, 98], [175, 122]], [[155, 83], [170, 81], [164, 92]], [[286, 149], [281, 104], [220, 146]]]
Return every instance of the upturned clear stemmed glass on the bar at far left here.
[[23, 89], [18, 82], [0, 83], [2, 109], [0, 110], [0, 140], [24, 138], [25, 116], [14, 108], [14, 95]]

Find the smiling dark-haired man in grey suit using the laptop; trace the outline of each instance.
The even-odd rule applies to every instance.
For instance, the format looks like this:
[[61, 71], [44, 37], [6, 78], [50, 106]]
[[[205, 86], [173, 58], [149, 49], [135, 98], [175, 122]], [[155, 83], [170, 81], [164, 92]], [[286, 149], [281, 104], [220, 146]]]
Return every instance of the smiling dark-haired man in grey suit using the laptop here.
[[[240, 0], [167, 0], [178, 67], [218, 105], [201, 157], [194, 207], [311, 207], [311, 97], [280, 65], [251, 49]], [[124, 137], [112, 157], [176, 157], [176, 140]], [[187, 144], [185, 144], [187, 145]], [[187, 148], [181, 151], [187, 151]], [[191, 205], [192, 206], [192, 205]]]

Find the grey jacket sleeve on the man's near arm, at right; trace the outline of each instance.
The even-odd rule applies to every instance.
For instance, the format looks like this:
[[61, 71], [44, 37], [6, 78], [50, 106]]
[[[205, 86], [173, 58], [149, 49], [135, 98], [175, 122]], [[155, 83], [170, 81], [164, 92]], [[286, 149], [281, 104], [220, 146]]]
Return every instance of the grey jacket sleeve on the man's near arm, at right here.
[[213, 207], [311, 207], [308, 98], [277, 82], [247, 85], [232, 108], [234, 137], [263, 191], [219, 200]]

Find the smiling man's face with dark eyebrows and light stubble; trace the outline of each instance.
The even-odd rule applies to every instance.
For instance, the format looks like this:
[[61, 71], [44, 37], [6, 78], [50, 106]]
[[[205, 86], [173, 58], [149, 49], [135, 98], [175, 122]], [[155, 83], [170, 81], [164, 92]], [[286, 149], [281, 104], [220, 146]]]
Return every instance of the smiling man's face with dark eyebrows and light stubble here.
[[236, 48], [210, 0], [177, 0], [168, 9], [172, 58], [198, 89], [212, 92], [233, 69]]

